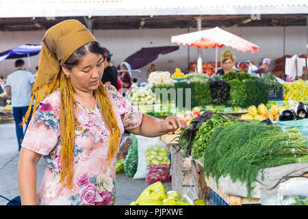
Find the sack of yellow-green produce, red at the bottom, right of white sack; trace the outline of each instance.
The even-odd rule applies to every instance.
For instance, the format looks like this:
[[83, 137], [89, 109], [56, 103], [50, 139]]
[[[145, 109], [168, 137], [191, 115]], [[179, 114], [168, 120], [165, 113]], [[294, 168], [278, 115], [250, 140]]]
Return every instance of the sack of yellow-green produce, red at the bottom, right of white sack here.
[[148, 172], [146, 183], [170, 182], [170, 158], [166, 146], [155, 145], [145, 151]]

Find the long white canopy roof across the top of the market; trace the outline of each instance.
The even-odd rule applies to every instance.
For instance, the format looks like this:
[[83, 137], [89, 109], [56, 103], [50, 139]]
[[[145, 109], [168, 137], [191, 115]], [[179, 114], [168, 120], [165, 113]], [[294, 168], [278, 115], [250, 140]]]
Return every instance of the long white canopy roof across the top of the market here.
[[307, 0], [0, 0], [0, 17], [308, 14]]

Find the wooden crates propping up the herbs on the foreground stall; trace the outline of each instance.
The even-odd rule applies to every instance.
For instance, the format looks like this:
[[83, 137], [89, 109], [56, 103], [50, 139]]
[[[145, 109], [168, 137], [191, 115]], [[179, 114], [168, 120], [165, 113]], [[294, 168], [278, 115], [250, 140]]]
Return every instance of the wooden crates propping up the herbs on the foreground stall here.
[[[171, 153], [170, 173], [172, 190], [179, 191], [181, 196], [188, 196], [192, 201], [203, 200], [207, 205], [261, 205], [259, 198], [226, 194], [222, 186], [213, 177], [203, 176], [203, 164], [199, 160], [185, 156], [183, 151], [177, 151], [177, 142], [172, 140], [177, 135], [164, 135], [160, 140], [168, 145]], [[307, 177], [308, 172], [302, 175]]]

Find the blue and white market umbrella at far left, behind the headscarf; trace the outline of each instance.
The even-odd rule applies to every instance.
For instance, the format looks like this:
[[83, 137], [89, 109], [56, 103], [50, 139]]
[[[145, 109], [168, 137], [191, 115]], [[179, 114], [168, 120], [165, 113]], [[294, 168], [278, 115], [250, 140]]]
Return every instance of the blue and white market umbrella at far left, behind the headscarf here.
[[37, 55], [42, 49], [42, 44], [23, 44], [14, 49], [4, 51], [0, 53], [0, 61], [5, 59], [18, 59], [22, 57], [28, 57], [28, 62], [30, 66], [29, 57], [32, 55]]

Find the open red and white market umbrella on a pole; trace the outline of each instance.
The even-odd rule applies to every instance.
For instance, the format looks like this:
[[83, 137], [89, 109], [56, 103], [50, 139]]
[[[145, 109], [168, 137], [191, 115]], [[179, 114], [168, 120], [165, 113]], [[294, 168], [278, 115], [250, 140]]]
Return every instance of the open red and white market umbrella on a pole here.
[[[238, 51], [250, 51], [251, 53], [254, 53], [254, 51], [257, 51], [259, 49], [256, 44], [253, 44], [252, 42], [244, 40], [239, 36], [231, 34], [228, 31], [220, 29], [219, 27], [172, 36], [171, 42], [181, 45], [188, 45], [190, 47], [203, 47], [205, 49], [216, 48], [216, 70], [218, 60], [218, 47], [232, 47], [234, 49], [237, 49]], [[198, 64], [200, 63], [198, 62]], [[198, 69], [201, 69], [199, 67]]]

